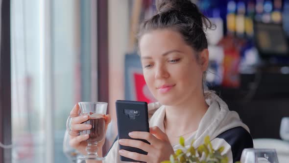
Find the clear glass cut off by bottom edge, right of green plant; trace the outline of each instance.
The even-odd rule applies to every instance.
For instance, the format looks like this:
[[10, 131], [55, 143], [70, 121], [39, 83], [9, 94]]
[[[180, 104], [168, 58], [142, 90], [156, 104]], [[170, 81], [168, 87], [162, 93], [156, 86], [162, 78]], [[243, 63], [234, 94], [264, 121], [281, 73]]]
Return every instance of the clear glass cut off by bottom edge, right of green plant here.
[[246, 148], [241, 155], [241, 163], [278, 163], [275, 149]]

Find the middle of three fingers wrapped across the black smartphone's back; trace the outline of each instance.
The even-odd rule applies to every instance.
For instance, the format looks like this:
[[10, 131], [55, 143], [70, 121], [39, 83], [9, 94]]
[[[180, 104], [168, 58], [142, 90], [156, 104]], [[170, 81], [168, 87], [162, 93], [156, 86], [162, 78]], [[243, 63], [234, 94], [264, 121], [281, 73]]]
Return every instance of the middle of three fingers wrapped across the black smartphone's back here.
[[144, 150], [145, 152], [152, 152], [155, 148], [141, 140], [133, 140], [133, 139], [120, 139], [120, 145], [135, 147]]

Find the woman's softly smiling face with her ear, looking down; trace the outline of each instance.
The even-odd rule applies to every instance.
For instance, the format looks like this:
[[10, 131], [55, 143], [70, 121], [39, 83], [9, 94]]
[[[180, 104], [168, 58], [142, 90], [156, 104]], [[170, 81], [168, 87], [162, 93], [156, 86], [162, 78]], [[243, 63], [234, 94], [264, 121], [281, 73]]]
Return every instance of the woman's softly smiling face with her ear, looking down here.
[[207, 50], [200, 53], [200, 61], [197, 61], [193, 48], [179, 32], [171, 29], [147, 32], [139, 44], [145, 82], [161, 104], [179, 105], [203, 93]]

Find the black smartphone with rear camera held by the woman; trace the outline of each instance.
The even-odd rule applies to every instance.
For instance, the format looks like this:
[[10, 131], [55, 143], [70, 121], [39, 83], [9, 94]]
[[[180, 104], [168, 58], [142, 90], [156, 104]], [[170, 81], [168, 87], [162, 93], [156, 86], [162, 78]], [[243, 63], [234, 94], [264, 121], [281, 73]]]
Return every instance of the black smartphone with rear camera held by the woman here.
[[[118, 100], [116, 102], [116, 109], [119, 139], [134, 139], [128, 136], [128, 133], [133, 131], [149, 132], [146, 102]], [[144, 139], [136, 140], [141, 140], [149, 144], [149, 142]], [[147, 155], [147, 152], [139, 148], [120, 145], [120, 149]], [[140, 162], [123, 156], [120, 156], [120, 160], [125, 162]]]

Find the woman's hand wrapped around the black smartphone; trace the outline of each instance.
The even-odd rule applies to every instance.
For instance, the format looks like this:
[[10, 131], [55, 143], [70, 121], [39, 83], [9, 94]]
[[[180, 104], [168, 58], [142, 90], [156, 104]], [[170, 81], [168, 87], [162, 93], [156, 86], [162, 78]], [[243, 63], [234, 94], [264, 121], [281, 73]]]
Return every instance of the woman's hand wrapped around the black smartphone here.
[[147, 152], [147, 155], [120, 150], [119, 153], [121, 156], [146, 163], [160, 163], [169, 160], [169, 156], [174, 154], [168, 136], [157, 126], [149, 128], [149, 133], [131, 132], [128, 135], [132, 138], [145, 139], [150, 145], [143, 141], [132, 139], [120, 139], [119, 143], [124, 146], [142, 149]]

